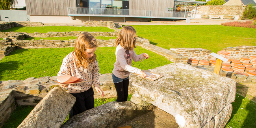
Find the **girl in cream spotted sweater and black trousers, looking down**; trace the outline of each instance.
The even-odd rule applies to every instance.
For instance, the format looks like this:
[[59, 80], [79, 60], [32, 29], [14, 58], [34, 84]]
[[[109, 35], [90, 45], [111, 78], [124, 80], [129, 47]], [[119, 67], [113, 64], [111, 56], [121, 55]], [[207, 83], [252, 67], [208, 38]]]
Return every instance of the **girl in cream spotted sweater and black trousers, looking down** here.
[[81, 33], [75, 43], [75, 50], [70, 52], [62, 61], [58, 76], [70, 75], [85, 79], [84, 83], [61, 85], [76, 97], [76, 102], [69, 113], [69, 117], [94, 108], [92, 84], [98, 93], [104, 96], [99, 86], [99, 65], [94, 53], [98, 44], [90, 33]]

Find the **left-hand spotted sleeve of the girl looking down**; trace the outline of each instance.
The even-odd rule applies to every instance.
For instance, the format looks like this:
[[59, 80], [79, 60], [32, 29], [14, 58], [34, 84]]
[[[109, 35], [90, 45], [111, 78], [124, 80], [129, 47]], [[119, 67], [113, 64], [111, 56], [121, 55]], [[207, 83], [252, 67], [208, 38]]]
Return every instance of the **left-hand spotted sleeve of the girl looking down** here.
[[62, 64], [60, 66], [60, 70], [57, 75], [58, 76], [71, 75], [70, 60], [67, 57], [63, 59]]

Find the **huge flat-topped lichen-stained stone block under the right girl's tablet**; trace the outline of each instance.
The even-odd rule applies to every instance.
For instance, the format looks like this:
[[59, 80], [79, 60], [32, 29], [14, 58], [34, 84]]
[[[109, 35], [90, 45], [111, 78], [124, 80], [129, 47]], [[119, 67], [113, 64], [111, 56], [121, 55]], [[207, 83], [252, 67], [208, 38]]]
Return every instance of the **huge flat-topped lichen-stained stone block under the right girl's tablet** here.
[[150, 71], [164, 77], [130, 75], [131, 86], [141, 100], [173, 115], [180, 128], [203, 127], [235, 100], [236, 82], [207, 70], [172, 63]]

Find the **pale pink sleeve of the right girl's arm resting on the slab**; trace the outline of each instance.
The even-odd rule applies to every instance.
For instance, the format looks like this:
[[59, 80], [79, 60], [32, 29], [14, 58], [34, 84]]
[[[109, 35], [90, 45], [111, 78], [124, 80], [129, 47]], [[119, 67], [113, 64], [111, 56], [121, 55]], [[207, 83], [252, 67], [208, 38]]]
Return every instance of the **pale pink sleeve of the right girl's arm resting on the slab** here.
[[125, 56], [124, 49], [123, 48], [119, 49], [116, 53], [116, 57], [121, 65], [122, 69], [124, 69], [128, 72], [139, 74], [141, 72], [141, 69], [138, 69], [138, 68], [132, 67], [131, 65], [128, 65], [126, 63], [126, 59], [124, 58], [124, 56]]

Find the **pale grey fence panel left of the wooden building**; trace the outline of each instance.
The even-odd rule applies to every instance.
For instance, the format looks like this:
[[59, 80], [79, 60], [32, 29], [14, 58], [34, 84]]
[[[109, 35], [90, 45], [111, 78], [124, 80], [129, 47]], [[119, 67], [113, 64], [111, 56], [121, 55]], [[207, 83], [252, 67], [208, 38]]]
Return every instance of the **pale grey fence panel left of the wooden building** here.
[[0, 10], [1, 21], [30, 21], [27, 11], [23, 10]]

